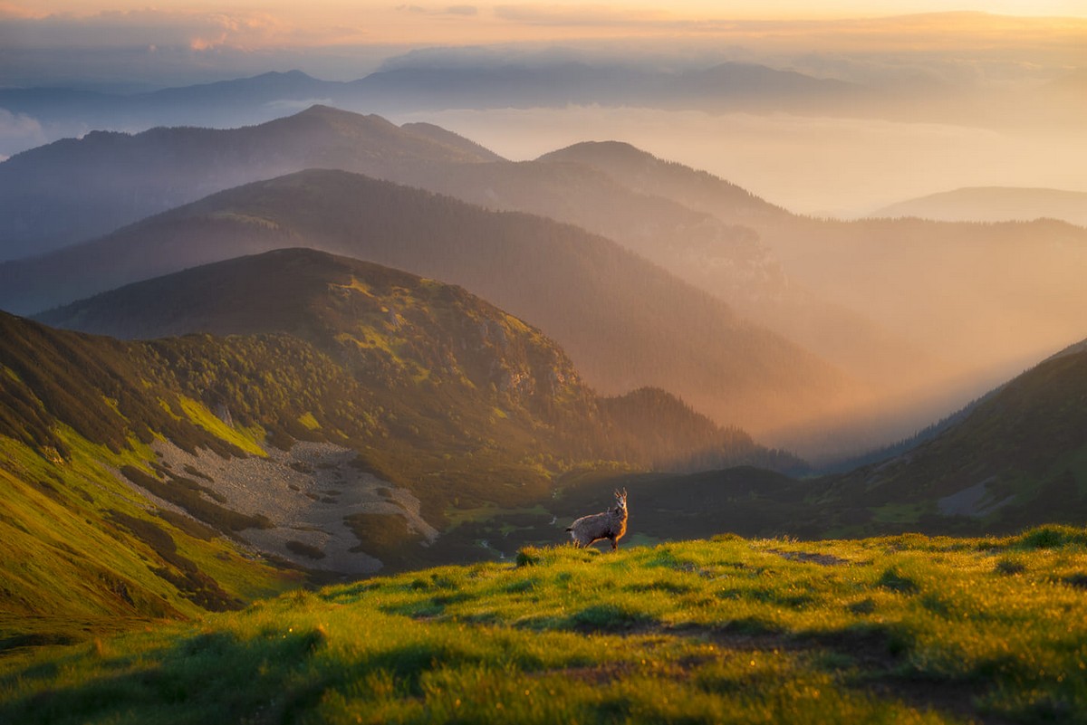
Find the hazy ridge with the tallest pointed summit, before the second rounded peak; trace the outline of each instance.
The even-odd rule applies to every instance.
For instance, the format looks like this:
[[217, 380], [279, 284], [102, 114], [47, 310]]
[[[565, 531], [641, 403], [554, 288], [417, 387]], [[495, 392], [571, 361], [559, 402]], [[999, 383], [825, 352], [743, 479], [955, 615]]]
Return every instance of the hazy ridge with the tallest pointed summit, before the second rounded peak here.
[[[514, 164], [437, 126], [397, 127], [327, 106], [233, 130], [95, 132], [0, 164], [0, 258], [46, 253], [245, 182], [339, 168], [574, 224], [680, 276], [699, 279], [712, 266], [703, 287], [729, 302], [774, 297], [786, 287], [749, 229], [589, 164], [558, 162]], [[58, 187], [59, 178], [70, 186]]]

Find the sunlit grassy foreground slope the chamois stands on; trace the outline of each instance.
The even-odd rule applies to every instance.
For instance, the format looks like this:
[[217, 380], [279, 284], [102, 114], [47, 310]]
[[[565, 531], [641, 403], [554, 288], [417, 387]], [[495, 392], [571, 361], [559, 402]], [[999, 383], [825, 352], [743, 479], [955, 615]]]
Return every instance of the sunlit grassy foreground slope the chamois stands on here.
[[526, 549], [0, 662], [0, 720], [1087, 722], [1087, 531]]

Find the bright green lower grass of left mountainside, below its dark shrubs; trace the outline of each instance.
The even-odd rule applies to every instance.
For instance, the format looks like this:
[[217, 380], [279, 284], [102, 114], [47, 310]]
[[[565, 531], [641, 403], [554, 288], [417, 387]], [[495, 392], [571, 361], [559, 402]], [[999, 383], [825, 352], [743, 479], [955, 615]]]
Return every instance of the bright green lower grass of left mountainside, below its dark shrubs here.
[[113, 471], [147, 466], [146, 447], [57, 434], [62, 462], [0, 436], [0, 650], [238, 608], [301, 583], [122, 484]]

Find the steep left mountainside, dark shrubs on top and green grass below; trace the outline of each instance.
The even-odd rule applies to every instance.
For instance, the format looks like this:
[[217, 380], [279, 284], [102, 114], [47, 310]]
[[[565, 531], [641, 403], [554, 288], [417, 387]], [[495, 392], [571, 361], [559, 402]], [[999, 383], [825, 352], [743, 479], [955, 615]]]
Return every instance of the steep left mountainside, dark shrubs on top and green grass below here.
[[118, 475], [150, 473], [153, 441], [224, 459], [254, 445], [208, 425], [214, 415], [157, 379], [148, 352], [0, 313], [0, 649], [235, 609], [301, 583], [222, 535], [265, 519], [193, 481], [149, 498]]

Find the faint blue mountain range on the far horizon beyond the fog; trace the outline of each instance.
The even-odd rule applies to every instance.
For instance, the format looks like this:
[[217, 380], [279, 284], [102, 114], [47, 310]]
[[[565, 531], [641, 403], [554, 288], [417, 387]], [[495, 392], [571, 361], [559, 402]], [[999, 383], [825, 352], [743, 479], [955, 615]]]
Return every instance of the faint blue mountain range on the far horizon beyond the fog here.
[[[89, 129], [245, 126], [314, 103], [383, 114], [569, 104], [802, 111], [823, 109], [863, 92], [859, 86], [736, 63], [684, 72], [586, 63], [427, 64], [378, 71], [353, 81], [320, 80], [290, 71], [129, 94], [66, 88], [0, 89], [0, 109], [34, 118], [47, 140], [55, 140]], [[0, 155], [26, 148], [26, 141], [11, 139], [0, 142]]]

